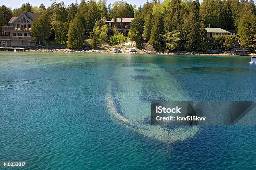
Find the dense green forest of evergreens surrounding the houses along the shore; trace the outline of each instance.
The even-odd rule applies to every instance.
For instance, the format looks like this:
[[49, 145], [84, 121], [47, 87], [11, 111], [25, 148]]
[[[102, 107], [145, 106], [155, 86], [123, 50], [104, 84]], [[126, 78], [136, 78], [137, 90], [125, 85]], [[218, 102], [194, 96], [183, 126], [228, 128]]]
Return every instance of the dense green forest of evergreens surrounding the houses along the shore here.
[[[253, 0], [164, 0], [146, 2], [143, 6], [125, 1], [107, 4], [106, 0], [82, 0], [66, 6], [63, 2], [45, 7], [29, 3], [11, 10], [0, 7], [0, 25], [8, 25], [11, 17], [26, 11], [41, 13], [33, 20], [31, 33], [34, 37], [53, 35], [55, 42], [69, 48], [83, 47], [89, 39], [92, 48], [97, 44], [118, 45], [128, 39], [158, 51], [208, 51], [229, 50], [239, 42], [241, 47], [256, 48], [256, 7]], [[134, 18], [128, 36], [106, 25], [106, 20]], [[205, 28], [233, 30], [236, 35], [214, 36], [208, 40]], [[109, 29], [112, 28], [112, 32]]]

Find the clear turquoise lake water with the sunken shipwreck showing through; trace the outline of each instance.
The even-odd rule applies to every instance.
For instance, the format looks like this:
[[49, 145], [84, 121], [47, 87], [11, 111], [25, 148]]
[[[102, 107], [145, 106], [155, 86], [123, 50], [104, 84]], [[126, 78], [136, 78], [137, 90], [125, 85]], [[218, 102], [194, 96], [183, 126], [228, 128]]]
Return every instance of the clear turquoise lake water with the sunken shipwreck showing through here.
[[255, 126], [165, 129], [147, 119], [152, 100], [256, 101], [249, 60], [0, 52], [0, 161], [28, 161], [29, 170], [255, 170]]

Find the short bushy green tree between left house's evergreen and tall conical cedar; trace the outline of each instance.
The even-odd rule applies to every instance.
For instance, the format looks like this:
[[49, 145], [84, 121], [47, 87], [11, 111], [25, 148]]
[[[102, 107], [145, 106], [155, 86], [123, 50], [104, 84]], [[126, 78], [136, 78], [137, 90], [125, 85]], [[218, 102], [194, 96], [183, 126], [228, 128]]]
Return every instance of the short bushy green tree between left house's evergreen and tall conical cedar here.
[[61, 21], [56, 21], [54, 23], [54, 35], [55, 35], [56, 42], [66, 43], [68, 31], [69, 31], [68, 22], [62, 23]]

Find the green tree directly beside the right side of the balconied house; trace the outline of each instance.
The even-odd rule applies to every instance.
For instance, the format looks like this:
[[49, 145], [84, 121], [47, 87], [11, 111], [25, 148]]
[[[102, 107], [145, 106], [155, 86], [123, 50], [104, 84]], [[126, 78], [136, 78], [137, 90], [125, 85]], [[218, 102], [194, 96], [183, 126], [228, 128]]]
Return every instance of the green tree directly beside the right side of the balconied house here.
[[34, 37], [42, 37], [44, 44], [46, 43], [46, 38], [51, 35], [51, 23], [47, 10], [38, 19], [33, 20], [31, 34]]

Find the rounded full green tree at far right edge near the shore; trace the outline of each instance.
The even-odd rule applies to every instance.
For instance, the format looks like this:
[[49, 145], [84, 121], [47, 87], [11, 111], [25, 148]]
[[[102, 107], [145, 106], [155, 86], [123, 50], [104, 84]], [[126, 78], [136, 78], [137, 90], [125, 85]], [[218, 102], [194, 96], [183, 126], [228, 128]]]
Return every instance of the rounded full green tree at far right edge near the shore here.
[[240, 37], [241, 46], [247, 50], [252, 50], [256, 39], [256, 16], [252, 11], [244, 13], [238, 23], [237, 35]]

